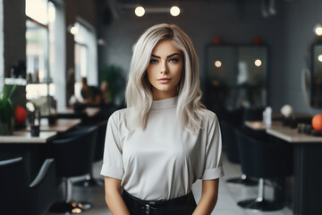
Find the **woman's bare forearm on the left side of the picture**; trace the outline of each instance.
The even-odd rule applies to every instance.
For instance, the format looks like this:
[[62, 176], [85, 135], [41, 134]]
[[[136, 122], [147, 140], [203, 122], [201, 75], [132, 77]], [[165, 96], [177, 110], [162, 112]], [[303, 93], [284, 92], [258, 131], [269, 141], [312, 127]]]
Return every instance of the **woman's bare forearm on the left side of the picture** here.
[[106, 204], [113, 215], [130, 215], [121, 196], [121, 180], [105, 177]]

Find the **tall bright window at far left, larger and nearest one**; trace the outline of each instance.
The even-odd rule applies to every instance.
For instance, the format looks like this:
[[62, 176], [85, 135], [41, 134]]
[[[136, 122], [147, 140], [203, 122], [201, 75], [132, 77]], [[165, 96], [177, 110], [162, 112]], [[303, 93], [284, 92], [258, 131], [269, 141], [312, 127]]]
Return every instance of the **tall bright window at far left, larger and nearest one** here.
[[55, 95], [55, 4], [26, 0], [26, 98]]

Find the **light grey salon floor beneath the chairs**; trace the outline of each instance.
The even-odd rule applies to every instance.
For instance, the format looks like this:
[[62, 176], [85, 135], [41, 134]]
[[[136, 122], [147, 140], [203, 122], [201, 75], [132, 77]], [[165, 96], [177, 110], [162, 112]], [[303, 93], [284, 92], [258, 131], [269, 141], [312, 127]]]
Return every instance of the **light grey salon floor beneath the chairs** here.
[[[99, 171], [101, 168], [101, 163], [96, 163], [94, 165], [94, 175], [99, 176]], [[244, 186], [244, 185], [232, 185], [225, 183], [227, 178], [232, 178], [234, 176], [241, 175], [241, 168], [239, 165], [231, 164], [224, 157], [224, 168], [225, 177], [220, 179], [219, 183], [219, 194], [218, 202], [216, 203], [216, 209], [211, 213], [212, 215], [292, 215], [292, 211], [288, 208], [284, 208], [281, 211], [274, 212], [261, 212], [261, 211], [251, 211], [244, 210], [237, 205], [237, 202], [255, 198], [258, 193], [257, 186]], [[73, 178], [74, 181], [80, 178]], [[192, 187], [196, 202], [199, 201], [201, 196], [201, 181], [197, 181]], [[271, 198], [273, 195], [271, 187], [266, 186], [266, 196]], [[104, 187], [94, 187], [94, 188], [80, 188], [77, 186], [72, 187], [72, 197], [76, 201], [88, 201], [93, 203], [93, 208], [89, 211], [85, 211], [84, 215], [108, 215], [111, 212], [106, 207], [106, 202], [104, 200]], [[57, 215], [56, 213], [48, 212], [47, 215]]]

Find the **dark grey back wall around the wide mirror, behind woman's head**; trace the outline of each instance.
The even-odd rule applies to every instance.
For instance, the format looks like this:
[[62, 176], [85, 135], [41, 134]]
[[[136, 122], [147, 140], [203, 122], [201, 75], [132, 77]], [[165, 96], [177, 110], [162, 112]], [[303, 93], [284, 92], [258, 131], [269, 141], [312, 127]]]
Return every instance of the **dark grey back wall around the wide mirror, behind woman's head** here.
[[226, 44], [249, 44], [259, 36], [269, 47], [268, 104], [274, 112], [290, 104], [295, 112], [317, 114], [321, 109], [310, 108], [301, 90], [301, 73], [309, 67], [308, 48], [315, 39], [313, 27], [322, 22], [322, 1], [276, 2], [277, 15], [269, 18], [261, 15], [260, 1], [188, 2], [180, 4], [183, 12], [176, 18], [165, 13], [138, 18], [130, 10], [123, 11], [118, 20], [99, 24], [98, 37], [106, 39], [106, 47], [99, 48], [99, 68], [116, 64], [127, 73], [132, 45], [143, 30], [160, 22], [175, 23], [191, 36], [201, 78], [205, 47], [214, 36], [221, 36]]

